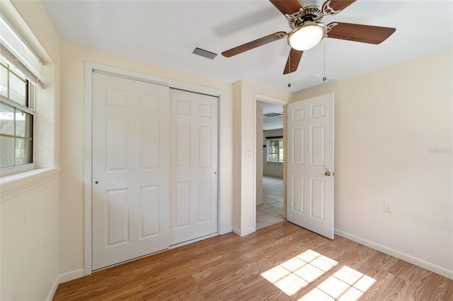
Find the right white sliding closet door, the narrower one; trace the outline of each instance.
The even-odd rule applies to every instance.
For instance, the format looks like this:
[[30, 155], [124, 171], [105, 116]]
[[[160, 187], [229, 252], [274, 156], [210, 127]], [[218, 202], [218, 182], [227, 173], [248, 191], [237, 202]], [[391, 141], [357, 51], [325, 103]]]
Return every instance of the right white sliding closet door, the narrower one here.
[[170, 90], [171, 243], [217, 232], [218, 98]]

